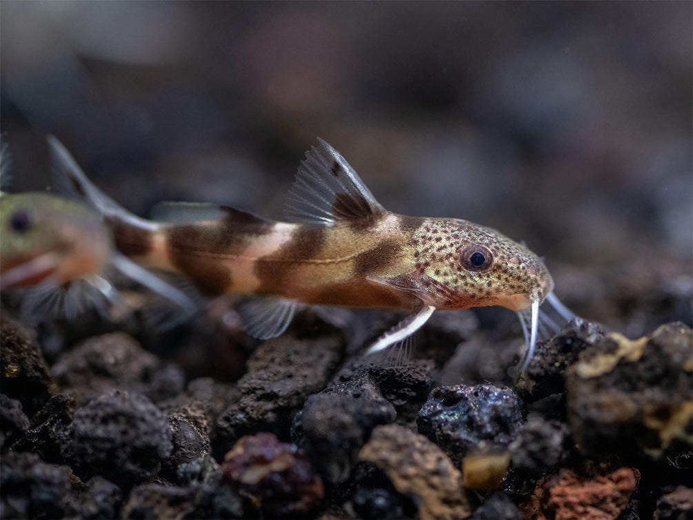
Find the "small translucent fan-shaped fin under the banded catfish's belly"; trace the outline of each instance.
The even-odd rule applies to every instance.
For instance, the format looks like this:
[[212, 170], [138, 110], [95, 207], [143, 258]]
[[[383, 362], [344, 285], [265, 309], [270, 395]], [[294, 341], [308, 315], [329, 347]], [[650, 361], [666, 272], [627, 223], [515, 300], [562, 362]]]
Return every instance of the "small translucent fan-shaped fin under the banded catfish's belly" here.
[[243, 327], [261, 340], [279, 336], [291, 323], [298, 303], [274, 297], [252, 297], [238, 307]]

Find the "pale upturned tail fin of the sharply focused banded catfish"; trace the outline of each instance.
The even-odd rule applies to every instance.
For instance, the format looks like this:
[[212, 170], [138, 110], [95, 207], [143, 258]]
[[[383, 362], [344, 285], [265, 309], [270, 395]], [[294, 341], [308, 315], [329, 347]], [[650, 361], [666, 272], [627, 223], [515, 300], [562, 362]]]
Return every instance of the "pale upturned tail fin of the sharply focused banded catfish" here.
[[140, 229], [156, 229], [157, 224], [139, 216], [133, 215], [127, 209], [121, 207], [115, 200], [100, 191], [87, 179], [87, 175], [77, 164], [58, 139], [49, 135], [48, 146], [53, 161], [55, 182], [60, 191], [78, 198], [87, 205], [93, 207], [99, 214], [106, 218], [121, 220], [124, 223], [134, 225]]

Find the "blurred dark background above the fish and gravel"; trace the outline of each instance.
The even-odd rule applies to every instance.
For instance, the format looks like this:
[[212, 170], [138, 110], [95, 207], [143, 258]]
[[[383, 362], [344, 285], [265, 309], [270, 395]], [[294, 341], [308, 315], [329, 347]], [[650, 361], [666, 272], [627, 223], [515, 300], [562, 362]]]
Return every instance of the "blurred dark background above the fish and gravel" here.
[[388, 209], [497, 227], [573, 309], [647, 332], [693, 285], [692, 10], [2, 1], [10, 191], [49, 186], [54, 134], [138, 214], [281, 218], [320, 136]]

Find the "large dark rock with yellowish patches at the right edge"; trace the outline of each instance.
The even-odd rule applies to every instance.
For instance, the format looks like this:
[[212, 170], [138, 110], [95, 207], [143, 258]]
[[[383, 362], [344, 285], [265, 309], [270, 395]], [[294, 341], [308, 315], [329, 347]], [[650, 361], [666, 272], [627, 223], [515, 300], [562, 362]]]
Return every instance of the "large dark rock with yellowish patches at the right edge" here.
[[582, 453], [693, 462], [693, 331], [681, 322], [629, 340], [611, 333], [565, 376], [568, 424]]

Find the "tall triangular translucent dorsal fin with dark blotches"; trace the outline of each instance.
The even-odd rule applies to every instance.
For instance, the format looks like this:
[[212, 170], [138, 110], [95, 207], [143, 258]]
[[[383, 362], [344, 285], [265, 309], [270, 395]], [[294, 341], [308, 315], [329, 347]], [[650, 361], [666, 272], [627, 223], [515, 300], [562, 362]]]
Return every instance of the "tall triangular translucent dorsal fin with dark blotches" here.
[[286, 216], [293, 222], [333, 226], [373, 223], [385, 214], [344, 157], [318, 137], [296, 173]]

